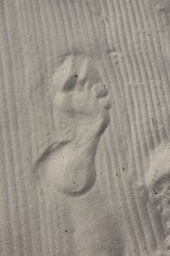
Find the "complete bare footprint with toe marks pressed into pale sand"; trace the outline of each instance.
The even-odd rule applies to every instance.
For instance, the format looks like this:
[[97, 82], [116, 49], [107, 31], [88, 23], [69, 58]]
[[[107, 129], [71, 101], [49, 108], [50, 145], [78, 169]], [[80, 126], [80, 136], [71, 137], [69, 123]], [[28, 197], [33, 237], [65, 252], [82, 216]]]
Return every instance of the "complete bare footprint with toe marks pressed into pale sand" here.
[[37, 160], [39, 183], [52, 191], [82, 195], [95, 182], [94, 157], [110, 121], [108, 90], [93, 60], [82, 55], [66, 56], [53, 81], [54, 119], [67, 122], [75, 135], [54, 143]]

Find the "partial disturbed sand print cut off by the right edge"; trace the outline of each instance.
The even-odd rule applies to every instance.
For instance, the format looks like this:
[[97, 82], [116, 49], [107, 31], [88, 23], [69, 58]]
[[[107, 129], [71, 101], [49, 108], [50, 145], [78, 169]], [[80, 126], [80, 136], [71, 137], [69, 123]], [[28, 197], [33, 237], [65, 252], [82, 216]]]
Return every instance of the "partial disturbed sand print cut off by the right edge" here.
[[146, 184], [151, 205], [155, 205], [165, 230], [164, 244], [155, 255], [170, 255], [170, 144], [162, 144], [150, 156]]

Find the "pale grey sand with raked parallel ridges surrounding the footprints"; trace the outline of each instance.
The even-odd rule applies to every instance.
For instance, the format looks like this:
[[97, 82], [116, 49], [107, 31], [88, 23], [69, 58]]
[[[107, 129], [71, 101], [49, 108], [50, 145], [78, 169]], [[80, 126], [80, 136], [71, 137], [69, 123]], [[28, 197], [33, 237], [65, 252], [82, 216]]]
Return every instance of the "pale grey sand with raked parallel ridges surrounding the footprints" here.
[[[170, 139], [169, 9], [157, 2], [0, 0], [0, 255], [155, 256], [164, 244], [144, 178]], [[50, 95], [59, 55], [75, 50], [94, 56], [111, 122], [93, 189], [51, 203], [32, 166], [71, 137], [54, 125]]]

